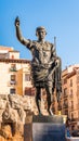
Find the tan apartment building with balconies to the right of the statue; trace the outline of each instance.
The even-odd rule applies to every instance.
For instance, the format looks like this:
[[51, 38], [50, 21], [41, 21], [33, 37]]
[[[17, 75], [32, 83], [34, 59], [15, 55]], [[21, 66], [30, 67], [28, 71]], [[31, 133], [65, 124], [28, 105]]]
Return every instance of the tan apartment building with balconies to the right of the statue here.
[[71, 129], [79, 126], [79, 65], [73, 65], [62, 72], [62, 114], [70, 118]]

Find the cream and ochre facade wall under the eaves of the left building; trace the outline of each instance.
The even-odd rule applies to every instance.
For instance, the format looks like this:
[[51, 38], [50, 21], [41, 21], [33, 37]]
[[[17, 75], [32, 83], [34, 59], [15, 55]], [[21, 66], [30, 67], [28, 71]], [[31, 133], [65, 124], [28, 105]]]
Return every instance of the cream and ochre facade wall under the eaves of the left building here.
[[[16, 65], [16, 72], [10, 70], [11, 65]], [[25, 70], [26, 69], [26, 70]], [[24, 93], [25, 87], [31, 87], [31, 81], [25, 80], [25, 74], [30, 76], [30, 72], [28, 70], [28, 64], [24, 63], [6, 63], [0, 62], [0, 93], [10, 93], [11, 88], [16, 89], [16, 93]], [[11, 75], [15, 75], [16, 84], [11, 85]]]

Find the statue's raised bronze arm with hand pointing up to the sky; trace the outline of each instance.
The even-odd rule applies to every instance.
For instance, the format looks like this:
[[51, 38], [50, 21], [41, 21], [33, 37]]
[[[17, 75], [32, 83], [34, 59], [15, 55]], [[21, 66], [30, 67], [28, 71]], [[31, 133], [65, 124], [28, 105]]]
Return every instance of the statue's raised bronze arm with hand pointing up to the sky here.
[[29, 44], [29, 40], [25, 39], [22, 36], [21, 28], [19, 28], [19, 18], [18, 18], [18, 16], [15, 18], [15, 29], [16, 29], [16, 37], [19, 40], [19, 42], [25, 44], [25, 46], [28, 46]]

